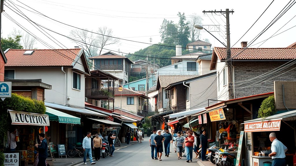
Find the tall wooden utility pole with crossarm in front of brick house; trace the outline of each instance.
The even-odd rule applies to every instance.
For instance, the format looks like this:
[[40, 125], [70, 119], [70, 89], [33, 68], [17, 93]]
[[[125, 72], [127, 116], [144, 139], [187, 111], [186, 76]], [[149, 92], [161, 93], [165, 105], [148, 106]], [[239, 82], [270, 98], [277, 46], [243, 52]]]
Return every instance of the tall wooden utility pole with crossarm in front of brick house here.
[[[230, 24], [229, 24], [229, 13], [233, 14], [234, 11], [233, 9], [229, 11], [229, 9], [226, 9], [225, 11], [203, 11], [203, 13], [226, 13], [226, 39], [227, 39], [227, 48], [226, 48], [226, 65], [227, 65], [227, 71], [228, 71], [228, 97], [229, 100], [234, 98], [234, 93], [233, 93], [233, 87], [232, 87], [232, 64], [231, 64], [231, 51], [230, 51]], [[225, 17], [225, 16], [224, 16]]]

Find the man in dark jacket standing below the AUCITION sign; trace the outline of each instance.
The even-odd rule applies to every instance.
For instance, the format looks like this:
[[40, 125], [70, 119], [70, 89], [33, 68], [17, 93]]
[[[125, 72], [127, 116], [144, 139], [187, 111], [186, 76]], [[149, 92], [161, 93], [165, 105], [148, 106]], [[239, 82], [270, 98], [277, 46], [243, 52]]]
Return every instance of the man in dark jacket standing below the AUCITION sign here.
[[47, 142], [46, 139], [44, 138], [45, 134], [44, 133], [40, 133], [39, 134], [39, 139], [41, 141], [41, 144], [35, 144], [36, 148], [38, 148], [38, 165], [37, 166], [46, 166], [45, 165], [45, 160], [47, 158]]

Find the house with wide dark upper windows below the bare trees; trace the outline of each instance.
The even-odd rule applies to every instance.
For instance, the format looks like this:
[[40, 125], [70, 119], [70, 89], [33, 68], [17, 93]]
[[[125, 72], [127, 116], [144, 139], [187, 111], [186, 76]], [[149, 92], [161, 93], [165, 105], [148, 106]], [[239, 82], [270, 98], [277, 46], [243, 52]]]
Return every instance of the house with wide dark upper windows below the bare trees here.
[[93, 61], [94, 70], [100, 69], [112, 74], [114, 77], [117, 77], [119, 79], [119, 85], [128, 83], [128, 77], [131, 71], [131, 64], [133, 64], [133, 62], [130, 61], [127, 57], [120, 56], [109, 51], [99, 56], [89, 57], [89, 59]]

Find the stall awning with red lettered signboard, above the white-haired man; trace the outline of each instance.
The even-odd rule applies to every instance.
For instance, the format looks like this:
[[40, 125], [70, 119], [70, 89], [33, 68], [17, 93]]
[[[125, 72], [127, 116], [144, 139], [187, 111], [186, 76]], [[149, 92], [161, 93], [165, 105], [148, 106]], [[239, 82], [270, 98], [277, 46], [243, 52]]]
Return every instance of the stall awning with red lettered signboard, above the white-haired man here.
[[268, 116], [266, 118], [257, 118], [249, 121], [244, 121], [245, 132], [261, 132], [261, 131], [279, 131], [281, 128], [281, 121], [295, 121], [296, 110], [279, 113]]

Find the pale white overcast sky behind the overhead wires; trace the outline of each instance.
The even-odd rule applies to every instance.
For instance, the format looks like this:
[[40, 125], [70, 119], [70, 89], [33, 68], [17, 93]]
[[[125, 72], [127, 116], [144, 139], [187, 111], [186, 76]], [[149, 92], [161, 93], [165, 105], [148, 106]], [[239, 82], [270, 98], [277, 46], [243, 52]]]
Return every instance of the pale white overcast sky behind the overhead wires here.
[[[24, 3], [21, 4], [20, 2]], [[247, 41], [248, 44], [256, 38], [256, 36], [264, 30], [266, 26], [281, 12], [282, 9], [289, 3], [287, 0], [249, 0], [249, 1], [98, 1], [98, 0], [6, 0], [4, 2], [4, 12], [2, 13], [2, 29], [1, 37], [6, 38], [13, 28], [22, 30], [6, 16], [14, 19], [18, 24], [26, 28], [29, 32], [44, 40], [48, 45], [36, 43], [34, 48], [49, 49], [52, 48], [74, 48], [77, 44], [62, 36], [69, 36], [70, 31], [74, 27], [87, 28], [92, 32], [96, 32], [98, 27], [106, 26], [113, 30], [113, 36], [126, 39], [120, 40], [120, 43], [105, 46], [104, 52], [112, 51], [120, 54], [133, 53], [139, 49], [146, 48], [150, 45], [149, 39], [152, 38], [152, 44], [161, 42], [159, 29], [163, 19], [168, 19], [178, 23], [178, 12], [185, 13], [187, 20], [190, 19], [193, 13], [199, 15], [203, 21], [202, 25], [218, 25], [221, 32], [211, 32], [216, 38], [226, 44], [226, 18], [219, 14], [203, 14], [202, 11], [229, 9], [234, 11], [230, 14], [230, 43], [231, 47], [240, 48], [240, 42]], [[272, 4], [271, 4], [272, 2]], [[15, 6], [12, 6], [14, 4]], [[270, 5], [271, 4], [271, 5]], [[7, 6], [6, 6], [7, 5]], [[268, 5], [270, 5], [268, 7]], [[13, 8], [15, 9], [13, 9]], [[266, 12], [260, 17], [264, 10]], [[10, 8], [10, 9], [9, 9]], [[25, 14], [26, 19], [16, 14], [17, 8]], [[34, 11], [34, 10], [36, 11]], [[14, 12], [15, 11], [15, 12]], [[46, 15], [41, 16], [38, 12]], [[278, 21], [276, 21], [266, 32], [256, 39], [250, 48], [280, 48], [287, 47], [295, 42], [295, 19], [296, 5], [292, 6]], [[247, 32], [247, 30], [255, 25]], [[71, 25], [67, 26], [65, 24]], [[292, 19], [292, 20], [291, 20]], [[28, 20], [42, 25], [52, 31], [43, 29], [41, 33]], [[290, 20], [290, 21], [289, 21]], [[35, 25], [36, 26], [36, 25]], [[207, 26], [204, 26], [207, 27]], [[290, 30], [287, 30], [291, 28]], [[40, 28], [39, 28], [40, 29]], [[287, 30], [287, 31], [285, 31]], [[22, 30], [25, 32], [24, 30]], [[277, 32], [278, 31], [278, 32]], [[285, 32], [283, 32], [285, 31]], [[246, 35], [244, 33], [247, 32]], [[283, 33], [281, 33], [283, 32]], [[48, 34], [47, 34], [48, 33]], [[281, 33], [281, 34], [279, 34]], [[46, 35], [44, 35], [46, 34]], [[273, 34], [279, 34], [270, 38]], [[243, 36], [244, 35], [244, 36]], [[242, 39], [240, 39], [243, 36]], [[200, 38], [209, 39], [212, 47], [223, 47], [223, 45], [212, 37], [205, 30], [201, 30]], [[268, 39], [270, 38], [270, 39]], [[240, 39], [240, 40], [239, 40]], [[268, 39], [265, 43], [259, 43]], [[56, 40], [53, 42], [52, 40]], [[133, 40], [133, 41], [127, 41]], [[58, 43], [59, 42], [59, 43]], [[142, 43], [139, 43], [142, 42]], [[237, 43], [236, 43], [237, 42]], [[56, 44], [58, 43], [58, 44]], [[147, 44], [144, 44], [147, 43]], [[235, 44], [236, 43], [236, 44]], [[256, 45], [254, 45], [256, 44]]]

